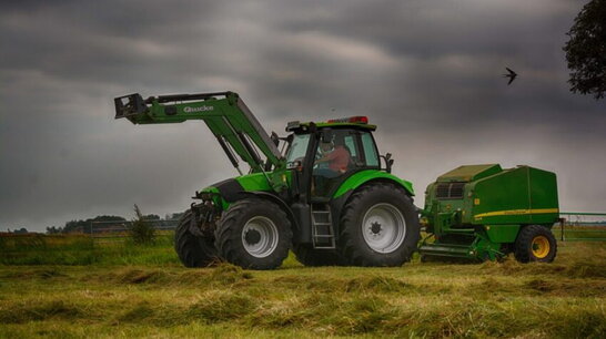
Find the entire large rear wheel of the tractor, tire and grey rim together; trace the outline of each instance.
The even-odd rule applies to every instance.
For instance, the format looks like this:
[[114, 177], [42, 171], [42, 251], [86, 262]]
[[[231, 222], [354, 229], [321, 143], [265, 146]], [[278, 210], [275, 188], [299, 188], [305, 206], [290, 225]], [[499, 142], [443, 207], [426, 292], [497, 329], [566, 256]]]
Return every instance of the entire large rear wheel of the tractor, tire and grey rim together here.
[[356, 266], [401, 266], [421, 237], [418, 214], [400, 187], [375, 183], [355, 192], [343, 209], [337, 248]]

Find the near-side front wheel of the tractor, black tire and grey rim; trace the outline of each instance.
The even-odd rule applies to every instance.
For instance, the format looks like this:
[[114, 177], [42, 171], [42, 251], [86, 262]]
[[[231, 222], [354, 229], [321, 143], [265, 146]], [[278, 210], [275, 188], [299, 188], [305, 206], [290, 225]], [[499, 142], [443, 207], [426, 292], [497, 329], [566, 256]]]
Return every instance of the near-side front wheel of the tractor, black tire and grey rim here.
[[[251, 230], [255, 230], [251, 235], [256, 239], [254, 244], [246, 239]], [[266, 199], [245, 198], [223, 214], [214, 244], [228, 263], [242, 268], [274, 269], [287, 257], [292, 236], [291, 222], [280, 206]], [[262, 246], [255, 248], [260, 242]]]

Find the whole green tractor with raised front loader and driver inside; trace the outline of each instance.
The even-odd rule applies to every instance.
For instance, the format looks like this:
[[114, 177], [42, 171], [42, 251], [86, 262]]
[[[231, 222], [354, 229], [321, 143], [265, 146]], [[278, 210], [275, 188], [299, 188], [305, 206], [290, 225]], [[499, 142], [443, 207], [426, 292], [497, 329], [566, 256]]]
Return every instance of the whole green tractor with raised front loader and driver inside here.
[[273, 269], [290, 249], [306, 266], [401, 266], [417, 249], [412, 184], [391, 174], [365, 116], [291, 122], [280, 137], [233, 92], [131, 94], [114, 104], [115, 117], [134, 124], [204, 121], [240, 173], [196, 192], [181, 218], [175, 249], [188, 267], [219, 258]]

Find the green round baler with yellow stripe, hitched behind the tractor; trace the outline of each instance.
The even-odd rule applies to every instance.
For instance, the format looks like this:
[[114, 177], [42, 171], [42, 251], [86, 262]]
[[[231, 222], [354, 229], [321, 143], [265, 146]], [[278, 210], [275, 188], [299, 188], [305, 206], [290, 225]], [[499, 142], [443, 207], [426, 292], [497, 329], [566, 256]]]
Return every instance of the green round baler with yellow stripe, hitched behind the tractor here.
[[425, 192], [422, 259], [553, 261], [558, 220], [556, 176], [552, 172], [497, 164], [468, 165], [443, 174]]

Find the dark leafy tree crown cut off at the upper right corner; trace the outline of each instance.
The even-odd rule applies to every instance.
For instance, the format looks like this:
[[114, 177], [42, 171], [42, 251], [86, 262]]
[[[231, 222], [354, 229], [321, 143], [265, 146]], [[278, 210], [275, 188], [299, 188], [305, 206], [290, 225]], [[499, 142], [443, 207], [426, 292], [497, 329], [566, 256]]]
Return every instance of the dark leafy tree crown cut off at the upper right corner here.
[[570, 91], [604, 99], [606, 92], [606, 0], [592, 0], [583, 7], [566, 33], [564, 45], [572, 71]]

